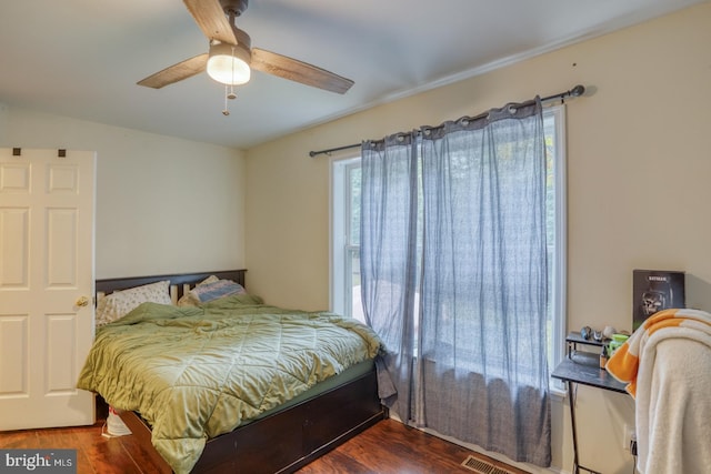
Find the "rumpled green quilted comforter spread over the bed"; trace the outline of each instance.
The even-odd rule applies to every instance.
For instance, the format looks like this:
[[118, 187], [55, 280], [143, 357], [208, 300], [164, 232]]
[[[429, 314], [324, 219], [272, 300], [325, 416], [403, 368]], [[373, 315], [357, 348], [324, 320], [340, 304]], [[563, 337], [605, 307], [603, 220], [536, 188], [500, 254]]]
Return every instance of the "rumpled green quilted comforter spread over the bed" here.
[[194, 466], [206, 441], [380, 351], [350, 317], [229, 296], [199, 307], [143, 303], [101, 327], [78, 387], [137, 411], [176, 473]]

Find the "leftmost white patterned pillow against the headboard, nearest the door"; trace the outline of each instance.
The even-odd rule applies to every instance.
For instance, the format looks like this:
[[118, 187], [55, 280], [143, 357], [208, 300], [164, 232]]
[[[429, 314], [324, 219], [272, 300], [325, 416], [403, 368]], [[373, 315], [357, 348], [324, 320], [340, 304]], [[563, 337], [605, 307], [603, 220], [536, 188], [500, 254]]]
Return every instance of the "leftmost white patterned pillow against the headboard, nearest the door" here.
[[164, 280], [129, 290], [114, 291], [102, 297], [97, 306], [97, 327], [120, 320], [141, 303], [171, 304], [169, 286], [170, 282]]

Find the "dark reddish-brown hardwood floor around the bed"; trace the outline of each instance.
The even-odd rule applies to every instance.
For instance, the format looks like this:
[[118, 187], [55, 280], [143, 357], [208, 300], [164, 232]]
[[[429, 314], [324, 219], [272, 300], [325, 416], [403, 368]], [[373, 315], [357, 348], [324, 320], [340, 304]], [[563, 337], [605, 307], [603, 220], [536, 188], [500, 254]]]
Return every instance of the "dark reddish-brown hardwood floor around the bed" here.
[[[132, 436], [103, 437], [102, 425], [103, 421], [93, 426], [0, 432], [0, 447], [76, 448], [79, 474], [149, 474], [157, 471]], [[474, 453], [397, 421], [384, 420], [299, 473], [471, 474], [472, 471], [461, 466], [470, 454]], [[485, 456], [477, 457], [515, 474], [525, 473]]]

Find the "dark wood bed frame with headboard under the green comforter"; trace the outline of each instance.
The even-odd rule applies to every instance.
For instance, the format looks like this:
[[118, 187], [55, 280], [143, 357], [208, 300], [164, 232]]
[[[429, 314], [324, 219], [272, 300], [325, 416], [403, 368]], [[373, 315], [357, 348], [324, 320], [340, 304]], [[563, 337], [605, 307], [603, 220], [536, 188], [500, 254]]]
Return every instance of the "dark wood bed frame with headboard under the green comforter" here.
[[[97, 293], [170, 280], [173, 297], [210, 275], [244, 285], [246, 270], [97, 280]], [[183, 286], [186, 285], [186, 286]], [[150, 426], [138, 413], [121, 413], [136, 441], [161, 473], [172, 472], [151, 444]], [[375, 372], [209, 440], [193, 473], [289, 473], [387, 417]]]

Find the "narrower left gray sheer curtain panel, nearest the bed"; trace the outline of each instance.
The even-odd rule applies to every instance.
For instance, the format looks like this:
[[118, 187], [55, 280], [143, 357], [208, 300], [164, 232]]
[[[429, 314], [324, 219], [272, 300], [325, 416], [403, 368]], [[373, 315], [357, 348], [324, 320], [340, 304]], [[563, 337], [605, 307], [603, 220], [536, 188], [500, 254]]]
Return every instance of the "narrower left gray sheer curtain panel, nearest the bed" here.
[[415, 142], [414, 133], [397, 134], [364, 142], [361, 150], [361, 193], [367, 195], [361, 199], [361, 216], [368, 215], [361, 218], [360, 234], [363, 312], [390, 349], [377, 361], [380, 397], [405, 420], [411, 410], [419, 266]]

